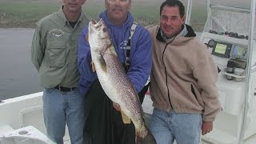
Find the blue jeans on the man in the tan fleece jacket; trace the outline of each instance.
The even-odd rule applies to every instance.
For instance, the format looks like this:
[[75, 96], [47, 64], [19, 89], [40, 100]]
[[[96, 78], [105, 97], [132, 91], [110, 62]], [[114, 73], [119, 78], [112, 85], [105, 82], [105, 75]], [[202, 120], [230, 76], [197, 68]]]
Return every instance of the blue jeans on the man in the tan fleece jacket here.
[[158, 144], [198, 144], [201, 138], [202, 115], [166, 112], [154, 108], [149, 129]]

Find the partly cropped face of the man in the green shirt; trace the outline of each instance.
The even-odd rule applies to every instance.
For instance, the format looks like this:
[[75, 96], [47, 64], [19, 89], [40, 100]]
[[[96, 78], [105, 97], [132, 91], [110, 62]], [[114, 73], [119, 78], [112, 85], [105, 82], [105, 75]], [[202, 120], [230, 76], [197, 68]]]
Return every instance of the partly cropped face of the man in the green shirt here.
[[62, 0], [64, 3], [64, 11], [68, 13], [80, 13], [82, 5], [86, 0]]

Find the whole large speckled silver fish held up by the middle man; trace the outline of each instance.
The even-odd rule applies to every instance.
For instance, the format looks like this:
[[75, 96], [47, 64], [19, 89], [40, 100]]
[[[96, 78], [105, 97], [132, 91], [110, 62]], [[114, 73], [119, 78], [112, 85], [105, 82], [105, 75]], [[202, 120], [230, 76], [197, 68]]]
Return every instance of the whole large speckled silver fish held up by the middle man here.
[[156, 144], [142, 118], [138, 94], [127, 77], [102, 19], [89, 23], [88, 41], [94, 68], [102, 89], [112, 102], [119, 104], [124, 123], [134, 122], [137, 144]]

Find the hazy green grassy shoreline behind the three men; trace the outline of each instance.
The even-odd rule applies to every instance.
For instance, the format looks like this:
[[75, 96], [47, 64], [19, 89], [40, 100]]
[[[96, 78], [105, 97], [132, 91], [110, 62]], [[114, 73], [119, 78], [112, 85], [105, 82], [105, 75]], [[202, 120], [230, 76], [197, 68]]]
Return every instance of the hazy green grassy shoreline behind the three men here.
[[[202, 1], [202, 0], [200, 0]], [[54, 13], [62, 5], [60, 0], [1, 0], [0, 1], [0, 27], [2, 28], [35, 28], [35, 23], [48, 14]], [[162, 1], [155, 0], [134, 0], [130, 9], [134, 21], [142, 26], [156, 25], [159, 18], [159, 7]], [[194, 1], [194, 9], [191, 18], [195, 30], [202, 30], [206, 21], [206, 7], [198, 0]], [[185, 4], [186, 5], [186, 4]], [[105, 10], [102, 0], [87, 0], [82, 7], [88, 18], [98, 18]]]

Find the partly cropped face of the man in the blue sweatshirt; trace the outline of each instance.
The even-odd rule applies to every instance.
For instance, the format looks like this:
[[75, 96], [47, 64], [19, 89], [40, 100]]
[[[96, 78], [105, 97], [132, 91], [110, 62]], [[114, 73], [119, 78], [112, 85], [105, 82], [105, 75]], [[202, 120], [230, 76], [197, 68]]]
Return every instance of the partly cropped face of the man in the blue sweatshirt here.
[[107, 17], [114, 23], [126, 21], [130, 10], [131, 0], [105, 0]]

